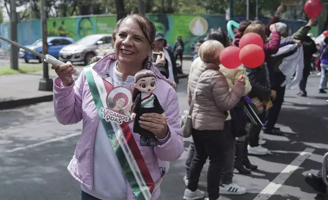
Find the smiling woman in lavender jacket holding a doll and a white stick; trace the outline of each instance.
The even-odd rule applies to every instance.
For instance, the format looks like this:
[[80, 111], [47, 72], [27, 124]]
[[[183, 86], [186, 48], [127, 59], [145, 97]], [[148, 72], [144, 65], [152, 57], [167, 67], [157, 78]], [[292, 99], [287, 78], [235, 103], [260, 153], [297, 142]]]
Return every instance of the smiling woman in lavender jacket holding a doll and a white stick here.
[[[136, 162], [144, 161], [150, 182], [155, 184], [149, 189], [153, 200], [160, 194], [157, 187], [161, 181], [158, 161], [175, 161], [183, 152], [175, 83], [163, 77], [150, 62], [149, 55], [156, 30], [147, 17], [139, 14], [129, 15], [120, 21], [116, 31], [113, 37], [115, 53], [103, 57], [90, 67], [95, 79], [102, 80], [104, 84], [111, 84], [113, 88], [130, 89], [134, 74], [143, 68], [154, 71], [156, 75], [156, 89], [153, 93], [158, 97], [166, 116], [152, 113], [151, 116], [144, 116], [139, 123], [154, 133], [158, 145], [139, 146], [139, 134], [132, 133], [141, 154], [134, 159]], [[71, 175], [81, 184], [81, 199], [138, 199], [100, 121], [86, 79], [85, 71], [89, 68], [81, 72], [76, 81], [72, 78], [75, 69], [70, 62], [61, 66], [53, 65], [52, 69], [56, 70], [59, 76], [54, 80], [53, 86], [54, 112], [58, 121], [62, 124], [74, 124], [83, 120], [83, 132], [68, 165]], [[133, 122], [130, 122], [130, 130], [132, 126]], [[138, 149], [131, 151], [133, 154], [133, 151]], [[141, 167], [140, 169], [145, 170]]]

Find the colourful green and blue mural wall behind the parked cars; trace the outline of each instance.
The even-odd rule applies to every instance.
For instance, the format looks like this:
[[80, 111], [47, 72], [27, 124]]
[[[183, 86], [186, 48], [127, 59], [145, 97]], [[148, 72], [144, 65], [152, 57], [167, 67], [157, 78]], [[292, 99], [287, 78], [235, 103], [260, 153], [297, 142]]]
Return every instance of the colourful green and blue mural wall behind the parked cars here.
[[[211, 28], [223, 27], [226, 29], [227, 27], [224, 15], [151, 14], [147, 17], [154, 22], [157, 32], [165, 35], [171, 47], [173, 47], [177, 37], [181, 35], [185, 46], [184, 54], [192, 54], [197, 41], [204, 39]], [[240, 22], [244, 20], [244, 17], [236, 16], [234, 20]], [[268, 23], [270, 19], [261, 20], [263, 23]], [[77, 41], [91, 34], [112, 33], [116, 22], [116, 15], [52, 18], [47, 19], [47, 34], [48, 36], [71, 37]], [[304, 22], [299, 21], [286, 20], [284, 22], [291, 33], [305, 25]], [[32, 31], [29, 31], [30, 29]], [[40, 20], [32, 20], [32, 23], [22, 21], [18, 24], [18, 30], [18, 42], [23, 45], [29, 45], [41, 38]], [[0, 32], [3, 36], [9, 37], [9, 24], [0, 24]], [[9, 49], [8, 43], [1, 41], [1, 44], [4, 49]]]

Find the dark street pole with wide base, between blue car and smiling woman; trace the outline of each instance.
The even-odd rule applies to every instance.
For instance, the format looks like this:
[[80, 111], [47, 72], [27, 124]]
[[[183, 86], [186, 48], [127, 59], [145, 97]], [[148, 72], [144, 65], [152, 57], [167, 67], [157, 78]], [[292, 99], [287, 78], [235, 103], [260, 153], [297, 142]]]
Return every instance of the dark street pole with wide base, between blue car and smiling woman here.
[[[46, 16], [46, 1], [41, 0], [41, 26], [42, 26], [42, 54], [48, 54], [48, 42], [47, 42], [47, 16]], [[42, 91], [52, 91], [52, 80], [49, 79], [49, 70], [48, 70], [48, 63], [43, 63], [43, 78], [40, 79], [39, 82], [39, 90]]]

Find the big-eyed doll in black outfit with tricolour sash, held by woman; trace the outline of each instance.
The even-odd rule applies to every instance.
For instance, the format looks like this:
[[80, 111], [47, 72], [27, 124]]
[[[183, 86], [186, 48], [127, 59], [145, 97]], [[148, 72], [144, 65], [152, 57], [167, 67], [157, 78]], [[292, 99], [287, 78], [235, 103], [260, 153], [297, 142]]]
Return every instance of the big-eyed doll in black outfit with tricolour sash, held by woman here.
[[148, 69], [140, 70], [134, 76], [133, 86], [131, 114], [131, 118], [134, 119], [133, 132], [140, 134], [141, 146], [157, 146], [155, 135], [141, 128], [138, 123], [140, 116], [144, 113], [164, 113], [157, 96], [152, 93], [156, 88], [156, 76]]

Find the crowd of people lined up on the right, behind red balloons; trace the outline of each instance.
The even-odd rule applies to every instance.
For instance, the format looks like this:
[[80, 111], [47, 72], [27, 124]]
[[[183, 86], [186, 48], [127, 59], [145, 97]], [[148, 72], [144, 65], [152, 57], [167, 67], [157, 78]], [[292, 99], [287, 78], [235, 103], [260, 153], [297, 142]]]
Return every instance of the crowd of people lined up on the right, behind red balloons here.
[[[189, 104], [193, 95], [197, 97], [192, 113], [193, 142], [189, 145], [183, 177], [187, 187], [184, 199], [205, 197], [205, 192], [198, 189], [198, 182], [207, 159], [206, 199], [218, 199], [220, 194], [241, 195], [247, 191], [233, 183], [234, 168], [239, 173], [249, 174], [257, 166], [250, 162], [248, 155], [268, 154], [268, 149], [262, 146], [265, 140], [260, 135], [261, 130], [271, 135], [283, 134], [275, 124], [286, 87], [298, 85], [297, 95], [307, 96], [307, 79], [316, 55], [319, 55], [316, 65], [321, 70], [319, 93], [326, 93], [328, 37], [321, 44], [314, 42], [309, 31], [316, 19], [310, 19], [306, 26], [288, 36], [287, 25], [279, 22], [281, 12], [283, 6], [278, 7], [265, 27], [258, 20], [241, 21], [234, 40], [223, 28], [212, 28], [204, 40], [197, 42], [187, 88]], [[217, 58], [225, 47], [238, 46], [240, 38], [247, 33], [257, 33], [263, 39], [264, 63], [257, 68], [227, 69]], [[259, 123], [254, 123], [245, 111], [250, 100], [256, 105]], [[306, 181], [316, 191], [325, 192], [320, 174], [310, 173]]]

